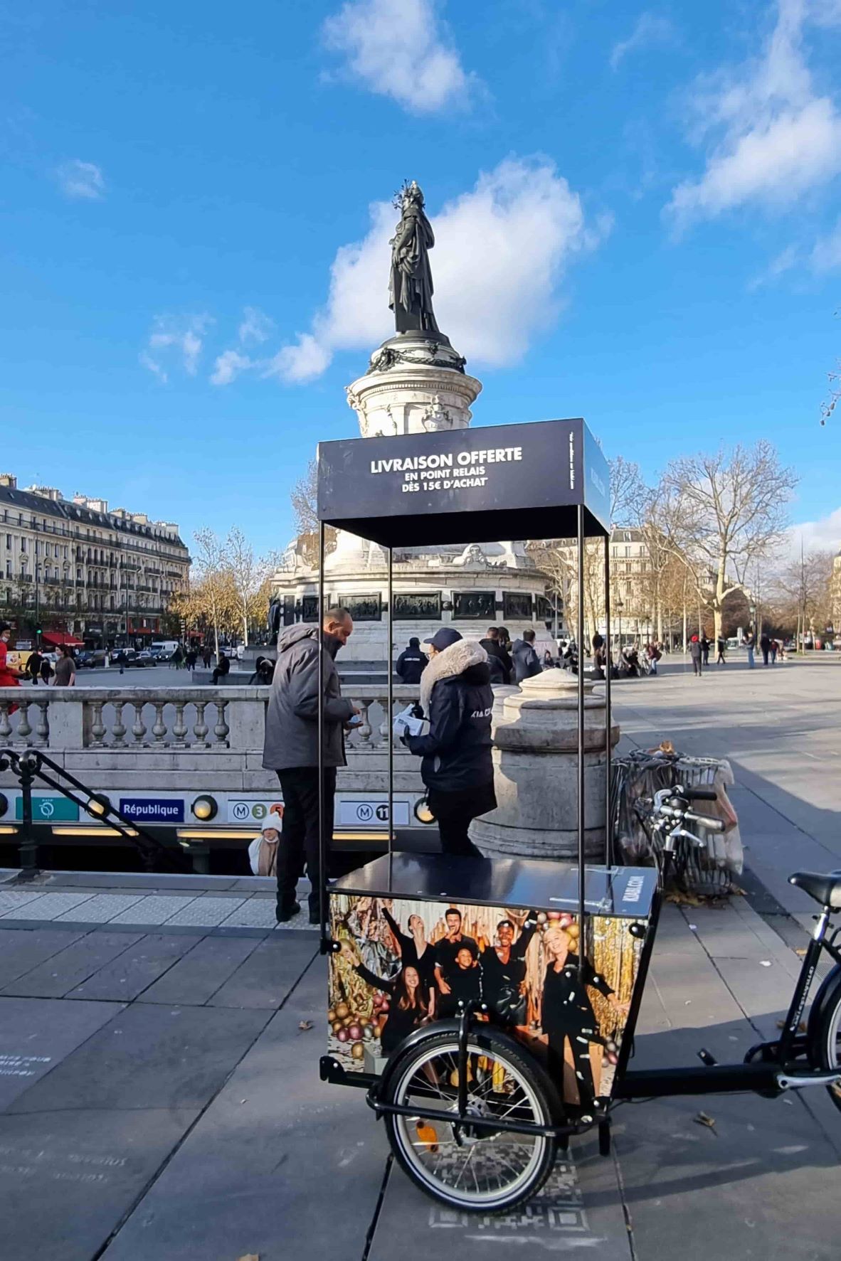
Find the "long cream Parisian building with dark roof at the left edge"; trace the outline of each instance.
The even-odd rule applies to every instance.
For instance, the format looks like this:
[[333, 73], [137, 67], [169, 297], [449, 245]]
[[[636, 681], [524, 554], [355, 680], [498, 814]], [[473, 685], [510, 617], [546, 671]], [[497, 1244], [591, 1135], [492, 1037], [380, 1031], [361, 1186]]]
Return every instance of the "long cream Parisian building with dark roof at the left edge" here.
[[0, 474], [0, 608], [21, 637], [40, 627], [44, 643], [149, 642], [189, 566], [173, 522], [53, 487], [18, 489]]

